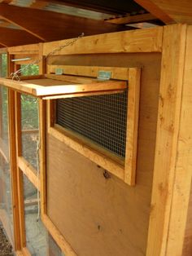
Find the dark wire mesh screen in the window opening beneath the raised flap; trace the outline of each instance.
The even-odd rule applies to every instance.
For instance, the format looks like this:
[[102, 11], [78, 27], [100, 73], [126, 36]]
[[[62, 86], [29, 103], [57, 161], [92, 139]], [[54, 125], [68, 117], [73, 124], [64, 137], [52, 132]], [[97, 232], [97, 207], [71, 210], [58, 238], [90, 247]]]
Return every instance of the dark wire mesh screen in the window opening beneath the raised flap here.
[[128, 91], [57, 99], [56, 122], [119, 157], [125, 156]]

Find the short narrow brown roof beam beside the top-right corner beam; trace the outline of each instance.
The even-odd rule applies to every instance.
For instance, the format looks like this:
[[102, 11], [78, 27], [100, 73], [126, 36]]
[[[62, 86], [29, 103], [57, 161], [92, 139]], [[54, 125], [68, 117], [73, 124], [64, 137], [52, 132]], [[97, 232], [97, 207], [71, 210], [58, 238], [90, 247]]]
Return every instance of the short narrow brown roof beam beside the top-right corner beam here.
[[106, 22], [111, 24], [132, 24], [132, 23], [150, 21], [150, 20], [157, 20], [157, 17], [155, 17], [155, 15], [152, 15], [151, 13], [145, 13], [140, 15], [132, 15], [132, 16], [129, 15], [123, 18], [106, 20]]

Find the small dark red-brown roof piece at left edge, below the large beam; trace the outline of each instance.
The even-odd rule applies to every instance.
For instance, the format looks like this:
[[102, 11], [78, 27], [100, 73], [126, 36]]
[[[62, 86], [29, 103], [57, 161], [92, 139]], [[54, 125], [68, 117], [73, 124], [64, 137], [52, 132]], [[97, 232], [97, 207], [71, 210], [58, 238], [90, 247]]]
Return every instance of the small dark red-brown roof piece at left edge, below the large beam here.
[[0, 27], [0, 43], [4, 46], [18, 46], [39, 41], [38, 38], [24, 30]]

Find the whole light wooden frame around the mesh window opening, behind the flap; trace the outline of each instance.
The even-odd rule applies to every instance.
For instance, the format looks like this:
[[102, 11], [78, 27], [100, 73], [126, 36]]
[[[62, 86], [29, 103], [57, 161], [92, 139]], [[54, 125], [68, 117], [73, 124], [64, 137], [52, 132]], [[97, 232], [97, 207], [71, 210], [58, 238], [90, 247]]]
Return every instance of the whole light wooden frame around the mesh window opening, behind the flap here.
[[[58, 67], [58, 66], [57, 66]], [[98, 70], [111, 70], [114, 79], [125, 80], [129, 82], [128, 86], [128, 113], [126, 136], [126, 150], [124, 161], [120, 157], [114, 157], [107, 150], [95, 146], [94, 143], [89, 143], [86, 139], [79, 139], [72, 132], [65, 130], [62, 126], [55, 124], [55, 106], [52, 100], [48, 102], [48, 133], [66, 143], [69, 147], [83, 156], [94, 161], [98, 166], [103, 167], [111, 174], [115, 174], [118, 178], [123, 179], [130, 186], [135, 185], [136, 179], [136, 161], [137, 161], [137, 127], [139, 113], [139, 92], [140, 92], [140, 75], [141, 68], [111, 68], [111, 67], [79, 67], [79, 66], [60, 66], [63, 67], [65, 73], [75, 75], [84, 75], [94, 77]], [[53, 67], [49, 68], [53, 72]]]

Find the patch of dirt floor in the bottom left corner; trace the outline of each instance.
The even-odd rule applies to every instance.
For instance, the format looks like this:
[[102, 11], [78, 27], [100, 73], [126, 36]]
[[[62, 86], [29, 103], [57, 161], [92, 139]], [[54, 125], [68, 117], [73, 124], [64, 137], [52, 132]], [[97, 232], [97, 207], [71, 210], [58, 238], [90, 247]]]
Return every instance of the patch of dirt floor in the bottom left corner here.
[[2, 223], [0, 223], [0, 256], [13, 256], [12, 247], [9, 241], [7, 241], [7, 237], [5, 236]]

